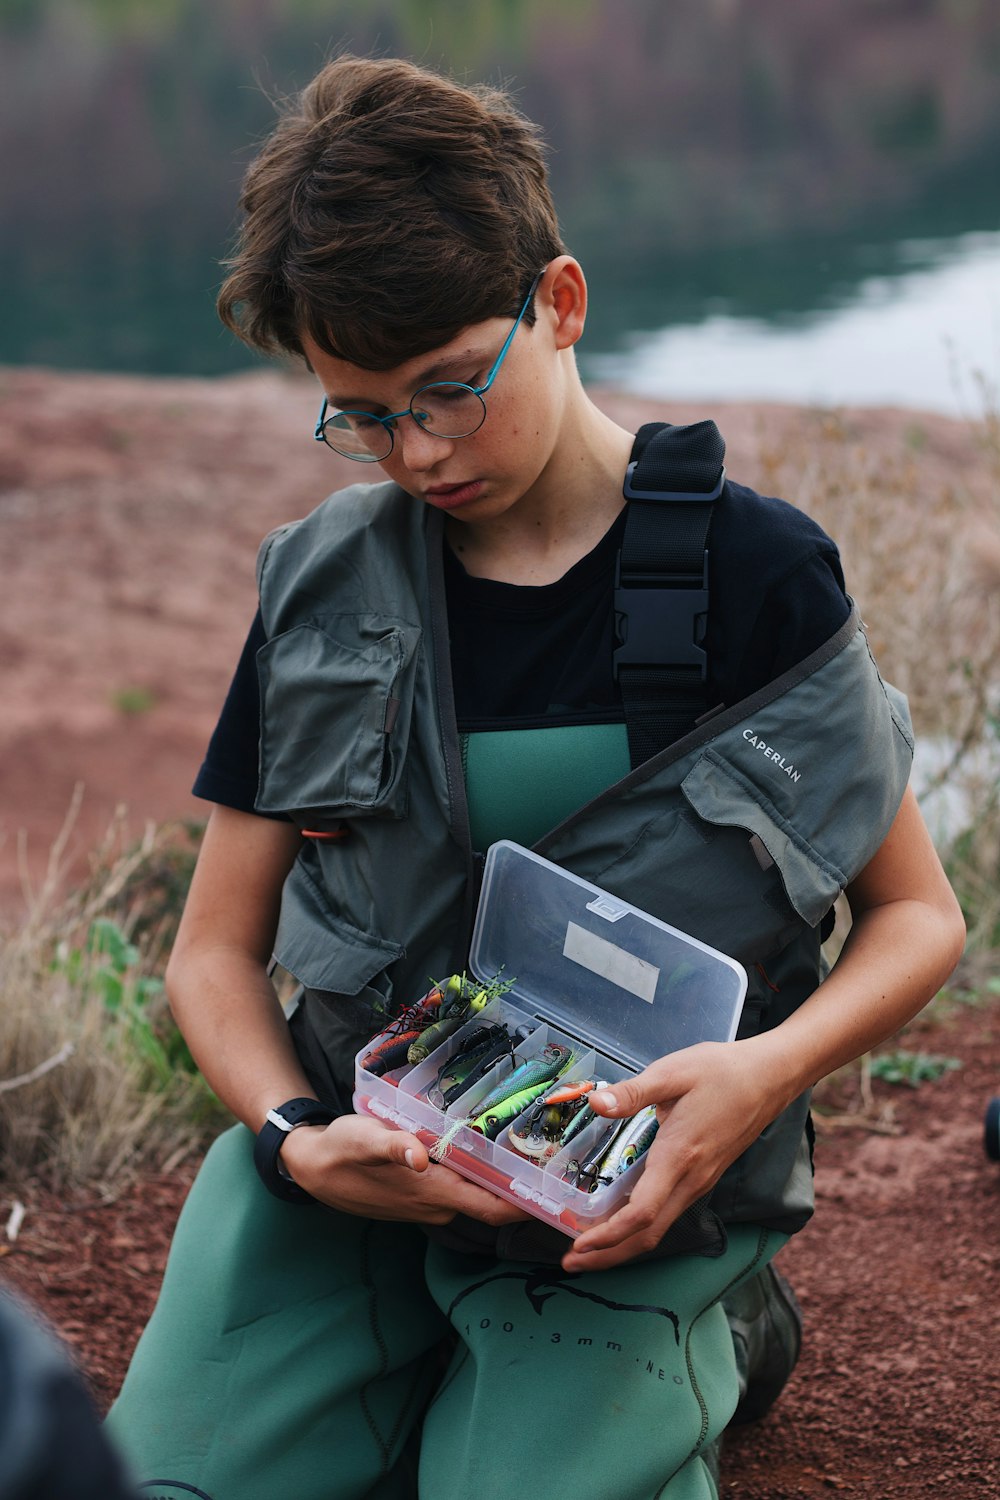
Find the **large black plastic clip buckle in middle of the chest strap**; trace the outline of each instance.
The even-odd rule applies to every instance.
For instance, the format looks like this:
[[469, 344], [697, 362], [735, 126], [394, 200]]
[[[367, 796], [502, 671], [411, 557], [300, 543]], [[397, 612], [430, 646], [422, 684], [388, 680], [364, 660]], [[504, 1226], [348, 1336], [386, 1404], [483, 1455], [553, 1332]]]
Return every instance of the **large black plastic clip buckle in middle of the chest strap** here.
[[[619, 560], [621, 570], [621, 560]], [[690, 666], [708, 676], [708, 654], [699, 645], [699, 616], [708, 614], [708, 552], [702, 588], [630, 585], [615, 579], [613, 674], [624, 666]]]

